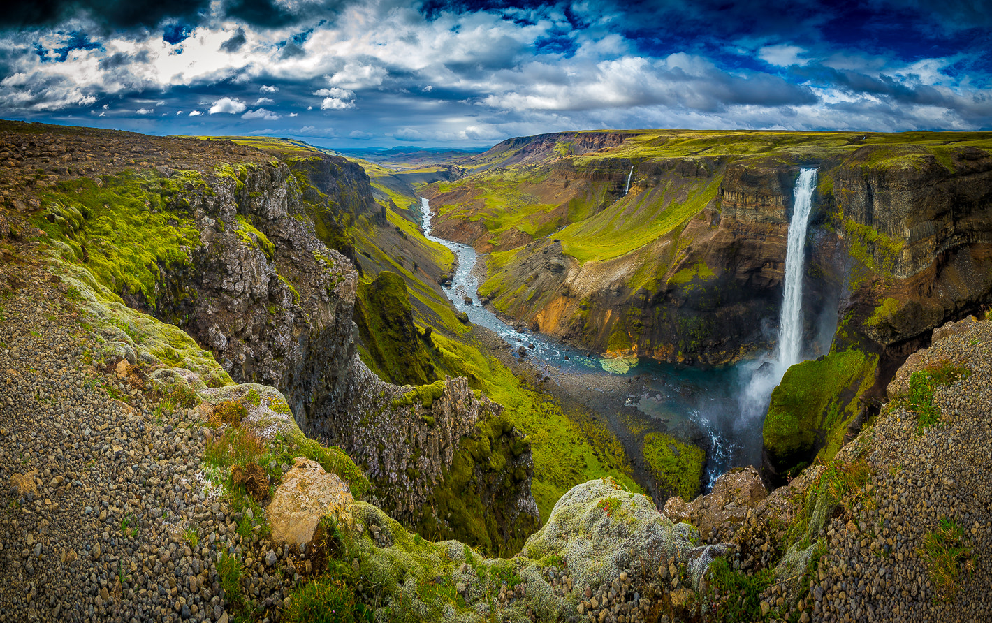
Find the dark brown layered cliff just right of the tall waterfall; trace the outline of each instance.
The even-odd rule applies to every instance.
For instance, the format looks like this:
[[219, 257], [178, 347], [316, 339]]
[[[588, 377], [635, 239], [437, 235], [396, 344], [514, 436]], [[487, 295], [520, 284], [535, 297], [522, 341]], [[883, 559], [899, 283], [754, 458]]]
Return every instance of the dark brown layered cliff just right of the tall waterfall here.
[[831, 198], [856, 268], [853, 307], [872, 341], [893, 351], [914, 349], [934, 326], [988, 303], [987, 152], [948, 150], [941, 162], [862, 148], [831, 173]]

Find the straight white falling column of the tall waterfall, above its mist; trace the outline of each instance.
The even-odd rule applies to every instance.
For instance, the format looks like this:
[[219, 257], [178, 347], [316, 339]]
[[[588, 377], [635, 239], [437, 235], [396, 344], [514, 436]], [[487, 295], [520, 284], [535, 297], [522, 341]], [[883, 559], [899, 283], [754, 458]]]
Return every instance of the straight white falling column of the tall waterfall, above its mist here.
[[803, 265], [806, 262], [806, 225], [816, 188], [816, 170], [804, 169], [796, 182], [793, 219], [789, 222], [789, 245], [786, 250], [785, 292], [779, 316], [778, 367], [785, 374], [789, 366], [799, 363], [803, 350]]

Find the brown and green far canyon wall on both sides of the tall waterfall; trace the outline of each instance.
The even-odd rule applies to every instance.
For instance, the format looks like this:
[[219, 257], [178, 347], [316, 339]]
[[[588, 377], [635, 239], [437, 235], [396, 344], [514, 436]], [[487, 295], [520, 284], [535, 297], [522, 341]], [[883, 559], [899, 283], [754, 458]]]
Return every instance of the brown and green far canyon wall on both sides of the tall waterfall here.
[[[828, 345], [821, 333], [852, 312], [852, 328], [891, 373], [930, 328], [973, 312], [992, 290], [984, 150], [857, 147], [859, 136], [844, 150], [639, 158], [629, 142], [614, 149], [606, 138], [594, 157], [574, 158], [561, 137], [516, 139], [504, 152], [528, 153], [526, 166], [507, 167], [502, 182], [492, 170], [433, 195], [441, 235], [498, 251], [481, 293], [524, 325], [599, 352], [668, 361], [721, 364], [770, 347], [793, 187], [810, 166], [819, 185], [804, 307], [816, 350]], [[507, 189], [480, 192], [493, 180]], [[507, 228], [514, 210], [501, 205], [517, 203], [533, 214]]]

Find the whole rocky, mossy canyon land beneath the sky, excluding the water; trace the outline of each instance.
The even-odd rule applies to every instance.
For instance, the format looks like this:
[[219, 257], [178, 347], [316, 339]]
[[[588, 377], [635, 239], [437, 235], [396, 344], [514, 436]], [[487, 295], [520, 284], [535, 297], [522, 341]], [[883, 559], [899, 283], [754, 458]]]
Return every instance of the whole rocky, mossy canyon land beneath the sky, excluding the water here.
[[[2, 122], [0, 141], [9, 611], [808, 621], [988, 605], [985, 134], [568, 132], [395, 170], [280, 139]], [[471, 304], [449, 300], [465, 267], [429, 229], [484, 255], [478, 297], [458, 291]], [[787, 263], [805, 266], [798, 321], [780, 319]], [[480, 305], [513, 330], [463, 312]], [[633, 452], [549, 374], [609, 393], [638, 366], [719, 373], [800, 343], [764, 399], [760, 464], [711, 486], [712, 448], [641, 413]], [[41, 372], [59, 368], [69, 391]], [[301, 486], [334, 493], [305, 511]], [[316, 513], [308, 535], [282, 532], [285, 504]], [[949, 585], [921, 554], [934, 538], [957, 548]]]

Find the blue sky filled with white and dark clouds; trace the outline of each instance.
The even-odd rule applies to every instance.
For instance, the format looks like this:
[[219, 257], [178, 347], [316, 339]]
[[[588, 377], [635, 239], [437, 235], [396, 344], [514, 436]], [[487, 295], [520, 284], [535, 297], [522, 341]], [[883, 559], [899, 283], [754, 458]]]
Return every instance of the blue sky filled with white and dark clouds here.
[[985, 0], [36, 0], [0, 118], [331, 148], [992, 129]]

